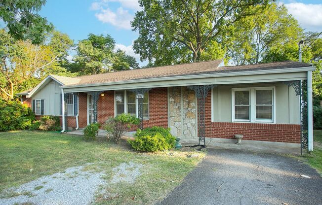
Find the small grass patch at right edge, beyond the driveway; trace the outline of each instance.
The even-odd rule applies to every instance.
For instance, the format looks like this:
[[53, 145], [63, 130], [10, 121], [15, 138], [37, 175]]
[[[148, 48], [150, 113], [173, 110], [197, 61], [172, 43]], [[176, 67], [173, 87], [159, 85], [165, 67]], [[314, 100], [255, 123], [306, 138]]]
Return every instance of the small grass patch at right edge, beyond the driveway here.
[[304, 154], [298, 159], [308, 163], [322, 175], [322, 130], [313, 131], [314, 149], [311, 155]]

